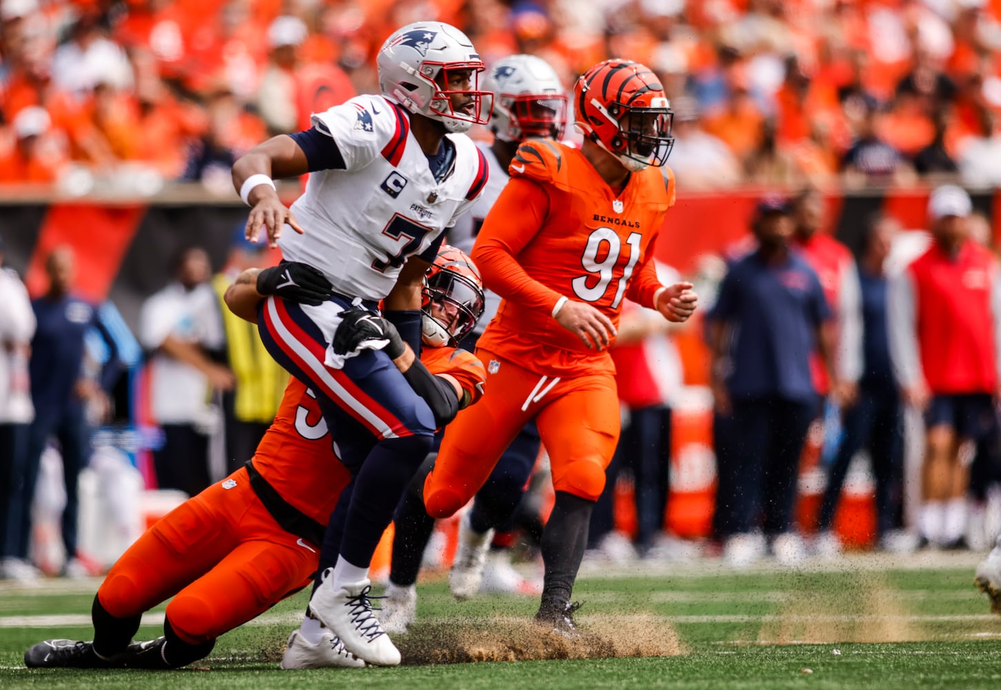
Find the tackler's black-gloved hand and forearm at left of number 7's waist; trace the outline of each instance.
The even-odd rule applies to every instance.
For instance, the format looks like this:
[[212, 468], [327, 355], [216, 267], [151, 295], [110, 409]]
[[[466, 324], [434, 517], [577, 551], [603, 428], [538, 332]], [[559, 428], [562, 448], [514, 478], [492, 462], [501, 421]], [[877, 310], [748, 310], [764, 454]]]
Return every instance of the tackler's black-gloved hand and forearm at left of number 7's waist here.
[[270, 268], [246, 268], [226, 288], [222, 299], [237, 316], [256, 323], [257, 306], [270, 294], [316, 305], [329, 299], [332, 291], [329, 280], [312, 266], [283, 261]]

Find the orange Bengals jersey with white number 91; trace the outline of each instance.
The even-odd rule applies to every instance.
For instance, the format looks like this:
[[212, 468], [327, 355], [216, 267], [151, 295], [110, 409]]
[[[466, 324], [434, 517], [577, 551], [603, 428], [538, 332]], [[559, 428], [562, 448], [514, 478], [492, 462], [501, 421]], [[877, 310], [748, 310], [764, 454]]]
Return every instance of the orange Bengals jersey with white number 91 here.
[[548, 140], [522, 144], [509, 171], [471, 251], [504, 297], [477, 347], [548, 376], [615, 371], [607, 351], [588, 350], [551, 314], [567, 296], [618, 326], [623, 299], [653, 305], [653, 245], [674, 173], [650, 167], [613, 189], [579, 149]]

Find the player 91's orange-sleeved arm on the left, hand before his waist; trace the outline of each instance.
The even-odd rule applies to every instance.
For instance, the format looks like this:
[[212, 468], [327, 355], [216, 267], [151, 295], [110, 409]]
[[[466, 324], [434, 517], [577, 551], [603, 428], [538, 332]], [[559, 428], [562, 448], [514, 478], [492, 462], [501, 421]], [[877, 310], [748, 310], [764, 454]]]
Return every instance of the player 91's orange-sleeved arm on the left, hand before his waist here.
[[545, 310], [592, 350], [612, 341], [612, 319], [591, 304], [571, 299], [532, 277], [517, 256], [542, 228], [550, 196], [536, 182], [512, 177], [483, 219], [470, 254], [483, 285], [505, 299]]

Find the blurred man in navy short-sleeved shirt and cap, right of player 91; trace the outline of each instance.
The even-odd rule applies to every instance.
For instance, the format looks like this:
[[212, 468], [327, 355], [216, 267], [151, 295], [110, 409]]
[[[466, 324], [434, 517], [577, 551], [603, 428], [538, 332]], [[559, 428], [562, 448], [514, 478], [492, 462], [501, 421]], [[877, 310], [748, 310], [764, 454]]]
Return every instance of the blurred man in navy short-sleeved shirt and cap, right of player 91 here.
[[718, 510], [730, 512], [723, 524], [735, 531], [726, 535], [729, 563], [757, 560], [768, 539], [776, 559], [794, 565], [805, 555], [792, 532], [799, 460], [817, 415], [810, 353], [818, 350], [831, 372], [831, 310], [817, 273], [789, 248], [788, 202], [762, 199], [752, 229], [758, 248], [733, 264], [707, 315], [716, 409], [733, 414], [721, 439], [732, 467], [719, 472], [740, 478], [726, 483], [734, 495], [721, 497]]

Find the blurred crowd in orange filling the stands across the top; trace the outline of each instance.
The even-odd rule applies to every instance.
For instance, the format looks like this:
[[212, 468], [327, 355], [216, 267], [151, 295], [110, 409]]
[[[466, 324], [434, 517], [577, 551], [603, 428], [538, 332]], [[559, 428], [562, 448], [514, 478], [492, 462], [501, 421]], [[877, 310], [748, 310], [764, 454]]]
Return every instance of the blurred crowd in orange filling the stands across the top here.
[[568, 85], [650, 65], [684, 188], [1001, 181], [998, 0], [3, 0], [0, 181], [231, 194], [235, 156], [375, 91], [375, 52], [417, 18]]

